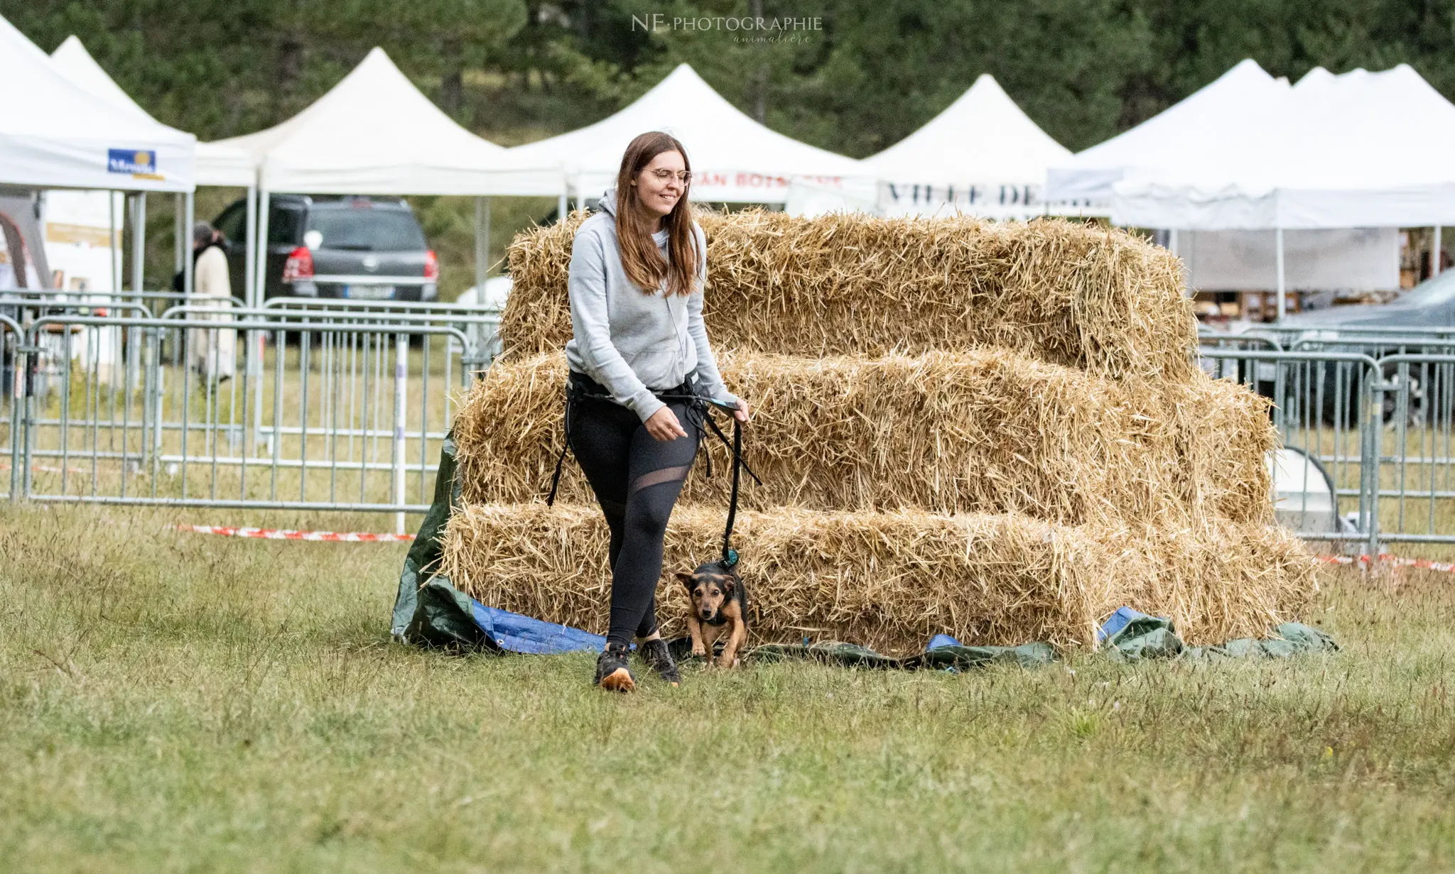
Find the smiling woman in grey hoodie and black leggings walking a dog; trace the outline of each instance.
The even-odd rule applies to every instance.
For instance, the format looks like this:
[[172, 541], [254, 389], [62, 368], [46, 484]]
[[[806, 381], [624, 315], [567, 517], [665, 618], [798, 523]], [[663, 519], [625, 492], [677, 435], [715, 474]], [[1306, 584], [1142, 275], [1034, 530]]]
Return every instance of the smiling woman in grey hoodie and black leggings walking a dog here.
[[611, 627], [595, 683], [621, 692], [636, 688], [633, 636], [649, 667], [681, 682], [658, 633], [655, 598], [666, 521], [700, 439], [678, 397], [710, 397], [748, 420], [748, 404], [717, 374], [703, 326], [707, 237], [691, 217], [690, 183], [682, 144], [642, 134], [570, 254], [567, 439], [611, 528]]

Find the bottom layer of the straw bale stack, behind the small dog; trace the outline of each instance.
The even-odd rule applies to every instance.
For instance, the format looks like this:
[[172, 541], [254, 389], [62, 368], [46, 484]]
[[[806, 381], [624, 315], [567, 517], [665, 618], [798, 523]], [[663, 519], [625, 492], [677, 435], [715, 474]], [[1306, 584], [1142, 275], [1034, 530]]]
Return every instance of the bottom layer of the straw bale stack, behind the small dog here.
[[[672, 572], [716, 557], [722, 513], [678, 508], [658, 588], [665, 634], [681, 634]], [[483, 604], [604, 633], [607, 528], [599, 510], [473, 505], [445, 532], [442, 570]], [[970, 644], [1088, 647], [1112, 611], [1170, 615], [1190, 643], [1264, 634], [1315, 588], [1304, 547], [1279, 529], [1221, 524], [1141, 532], [1020, 515], [739, 516], [752, 643], [850, 640], [886, 653], [937, 633]]]

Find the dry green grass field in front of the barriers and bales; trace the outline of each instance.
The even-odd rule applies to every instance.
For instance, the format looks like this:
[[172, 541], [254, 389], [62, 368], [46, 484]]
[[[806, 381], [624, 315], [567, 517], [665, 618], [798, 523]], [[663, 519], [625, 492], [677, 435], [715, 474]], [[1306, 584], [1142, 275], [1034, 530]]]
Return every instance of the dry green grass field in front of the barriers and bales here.
[[1343, 650], [1289, 662], [613, 697], [585, 654], [390, 643], [403, 547], [182, 518], [0, 509], [0, 868], [1455, 867], [1448, 576], [1326, 577], [1308, 620]]

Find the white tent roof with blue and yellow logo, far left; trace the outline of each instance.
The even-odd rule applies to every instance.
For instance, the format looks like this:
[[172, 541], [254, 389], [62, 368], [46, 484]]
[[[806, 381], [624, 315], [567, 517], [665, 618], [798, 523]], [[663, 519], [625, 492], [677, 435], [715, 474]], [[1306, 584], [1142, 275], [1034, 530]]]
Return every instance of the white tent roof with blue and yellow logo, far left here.
[[0, 183], [192, 191], [196, 138], [97, 97], [0, 17]]

